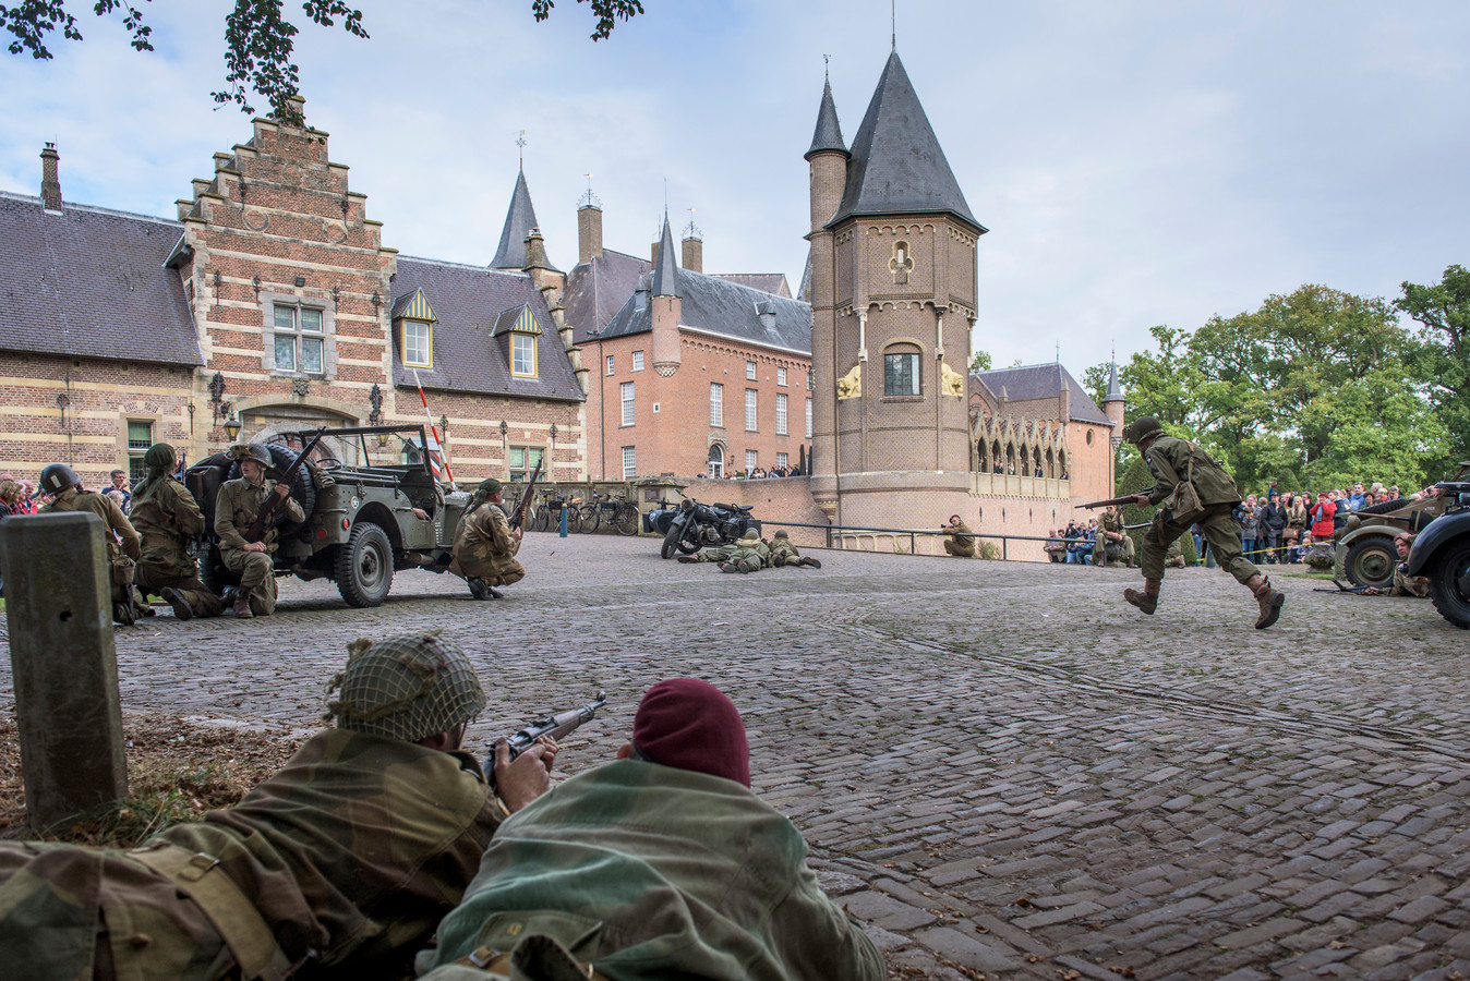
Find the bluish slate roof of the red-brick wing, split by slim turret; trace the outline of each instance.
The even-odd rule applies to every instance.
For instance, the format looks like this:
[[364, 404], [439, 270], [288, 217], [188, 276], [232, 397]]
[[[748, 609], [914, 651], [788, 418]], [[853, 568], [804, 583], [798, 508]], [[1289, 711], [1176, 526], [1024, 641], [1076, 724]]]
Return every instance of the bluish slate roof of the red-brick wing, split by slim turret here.
[[[653, 329], [650, 292], [647, 292], [653, 289], [651, 280], [653, 276], [644, 276], [639, 285], [645, 292], [628, 297], [628, 303], [603, 330], [604, 338]], [[811, 354], [811, 307], [800, 300], [788, 300], [719, 276], [691, 273], [686, 269], [679, 270], [679, 289], [684, 292], [681, 326], [748, 344]], [[776, 314], [775, 323], [769, 327], [760, 319], [761, 305]]]

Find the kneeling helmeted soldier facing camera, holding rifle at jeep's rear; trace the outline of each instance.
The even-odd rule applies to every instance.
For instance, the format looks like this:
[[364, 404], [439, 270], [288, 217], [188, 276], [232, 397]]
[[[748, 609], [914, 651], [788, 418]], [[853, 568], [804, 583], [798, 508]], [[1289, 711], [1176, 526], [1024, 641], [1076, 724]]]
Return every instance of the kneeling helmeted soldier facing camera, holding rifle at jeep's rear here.
[[270, 558], [278, 548], [276, 530], [268, 527], [259, 542], [247, 542], [245, 532], [270, 493], [285, 498], [285, 518], [304, 521], [306, 513], [291, 496], [291, 488], [266, 477], [266, 467], [273, 461], [265, 446], [231, 446], [229, 455], [240, 461], [240, 477], [219, 488], [215, 535], [219, 536], [219, 558], [225, 568], [240, 574], [240, 586], [226, 587], [222, 599], [232, 602], [237, 617], [269, 617], [276, 604], [275, 561]]

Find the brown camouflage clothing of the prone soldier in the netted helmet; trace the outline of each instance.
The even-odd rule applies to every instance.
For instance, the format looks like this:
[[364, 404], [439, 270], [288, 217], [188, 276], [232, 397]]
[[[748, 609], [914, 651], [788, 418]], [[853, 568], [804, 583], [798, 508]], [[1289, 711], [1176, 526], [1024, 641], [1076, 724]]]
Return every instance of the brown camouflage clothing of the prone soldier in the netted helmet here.
[[238, 977], [213, 919], [144, 865], [178, 846], [218, 859], [295, 978], [397, 977], [460, 900], [500, 814], [469, 756], [326, 730], [235, 808], [137, 852], [0, 844], [0, 963], [26, 965], [28, 981]]

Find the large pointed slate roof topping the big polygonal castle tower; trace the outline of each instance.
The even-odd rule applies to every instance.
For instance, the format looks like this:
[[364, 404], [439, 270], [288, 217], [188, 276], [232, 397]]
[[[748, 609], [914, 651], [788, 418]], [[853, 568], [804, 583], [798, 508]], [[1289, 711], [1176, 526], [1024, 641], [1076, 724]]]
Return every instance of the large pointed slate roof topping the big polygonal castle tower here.
[[847, 188], [828, 228], [854, 214], [948, 211], [988, 231], [970, 214], [897, 51], [888, 56], [851, 154]]

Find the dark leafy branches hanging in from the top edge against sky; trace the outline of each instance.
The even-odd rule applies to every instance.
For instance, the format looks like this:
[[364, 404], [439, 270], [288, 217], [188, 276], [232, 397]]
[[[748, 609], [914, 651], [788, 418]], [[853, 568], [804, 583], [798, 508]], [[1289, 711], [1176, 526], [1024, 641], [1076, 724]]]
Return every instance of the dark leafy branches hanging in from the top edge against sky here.
[[[642, 13], [641, 0], [576, 0], [588, 3], [597, 18], [592, 40], [607, 38], [617, 21], [628, 21]], [[12, 54], [31, 53], [31, 57], [50, 60], [47, 38], [56, 31], [68, 41], [81, 41], [82, 34], [76, 16], [66, 9], [68, 0], [18, 0], [0, 3], [0, 31], [10, 34]], [[78, 0], [72, 0], [76, 9]], [[212, 93], [220, 106], [235, 103], [243, 113], [254, 115], [251, 93], [263, 98], [272, 115], [287, 123], [300, 125], [301, 115], [293, 98], [298, 95], [301, 81], [297, 66], [291, 62], [298, 28], [281, 12], [282, 0], [235, 0], [234, 9], [225, 16], [225, 87]], [[531, 0], [531, 13], [537, 22], [551, 16], [556, 0]], [[301, 10], [307, 21], [323, 28], [341, 21], [344, 31], [353, 37], [366, 38], [362, 10], [354, 10], [345, 0], [303, 0]], [[97, 16], [121, 15], [123, 25], [132, 31], [129, 44], [138, 51], [151, 51], [153, 28], [144, 23], [143, 12], [128, 0], [96, 0], [93, 13]]]

